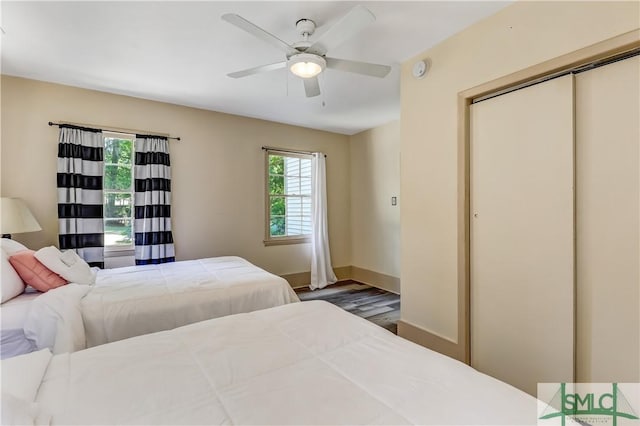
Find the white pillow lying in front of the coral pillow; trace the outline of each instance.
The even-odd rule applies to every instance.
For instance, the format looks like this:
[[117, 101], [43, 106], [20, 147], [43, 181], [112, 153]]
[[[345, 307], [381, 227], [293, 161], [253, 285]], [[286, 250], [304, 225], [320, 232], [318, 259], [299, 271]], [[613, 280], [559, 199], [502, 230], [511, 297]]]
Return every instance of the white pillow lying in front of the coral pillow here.
[[64, 253], [55, 246], [43, 247], [35, 253], [44, 266], [65, 280], [76, 284], [93, 284], [96, 274], [91, 267], [73, 250]]

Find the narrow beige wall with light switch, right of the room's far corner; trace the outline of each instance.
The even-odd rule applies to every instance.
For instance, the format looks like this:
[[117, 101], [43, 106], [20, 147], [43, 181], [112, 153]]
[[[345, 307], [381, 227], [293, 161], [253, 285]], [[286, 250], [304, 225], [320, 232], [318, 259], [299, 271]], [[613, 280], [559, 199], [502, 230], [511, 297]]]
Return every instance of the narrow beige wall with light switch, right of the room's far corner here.
[[352, 264], [391, 277], [372, 284], [399, 291], [400, 122], [351, 136], [350, 157]]

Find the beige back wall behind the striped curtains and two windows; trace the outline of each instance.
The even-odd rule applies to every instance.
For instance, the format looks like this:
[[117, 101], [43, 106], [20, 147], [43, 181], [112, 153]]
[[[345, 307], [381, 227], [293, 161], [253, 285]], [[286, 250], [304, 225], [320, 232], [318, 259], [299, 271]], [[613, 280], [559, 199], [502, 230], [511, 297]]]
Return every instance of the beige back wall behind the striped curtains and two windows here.
[[[265, 247], [261, 146], [327, 154], [334, 267], [351, 265], [349, 137], [272, 122], [2, 76], [2, 196], [21, 197], [43, 231], [14, 237], [57, 244], [57, 127], [97, 124], [180, 136], [171, 142], [178, 259], [239, 255], [276, 274], [309, 270], [309, 244]], [[277, 105], [274, 105], [277, 108]]]

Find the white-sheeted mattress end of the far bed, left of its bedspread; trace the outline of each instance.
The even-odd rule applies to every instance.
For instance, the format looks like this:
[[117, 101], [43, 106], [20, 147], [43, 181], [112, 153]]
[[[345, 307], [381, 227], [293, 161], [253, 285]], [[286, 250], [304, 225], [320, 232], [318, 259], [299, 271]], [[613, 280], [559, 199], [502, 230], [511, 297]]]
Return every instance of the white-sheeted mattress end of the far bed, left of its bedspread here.
[[32, 352], [36, 346], [24, 334], [31, 302], [40, 295], [29, 291], [0, 305], [0, 359]]

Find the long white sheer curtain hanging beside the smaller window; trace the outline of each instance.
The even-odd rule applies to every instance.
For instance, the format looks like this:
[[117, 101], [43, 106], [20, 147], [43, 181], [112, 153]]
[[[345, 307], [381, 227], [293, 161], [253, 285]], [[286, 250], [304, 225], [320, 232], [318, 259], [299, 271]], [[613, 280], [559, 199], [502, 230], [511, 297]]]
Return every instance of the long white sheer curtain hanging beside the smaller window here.
[[329, 253], [329, 225], [327, 222], [327, 178], [324, 154], [313, 153], [311, 175], [311, 204], [313, 205], [311, 230], [311, 284], [312, 290], [324, 288], [338, 279], [331, 267]]

